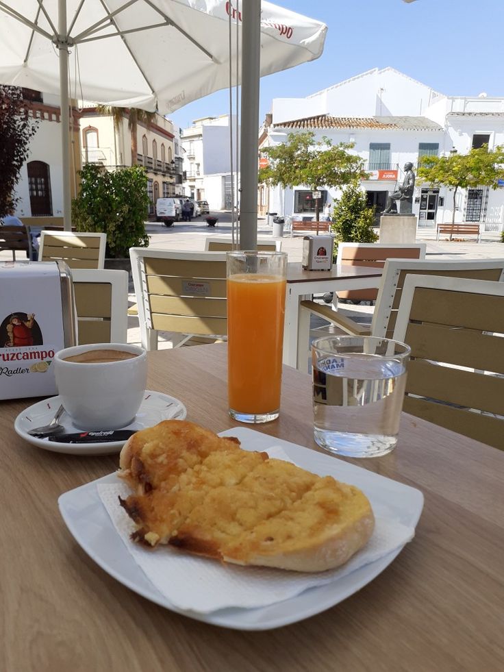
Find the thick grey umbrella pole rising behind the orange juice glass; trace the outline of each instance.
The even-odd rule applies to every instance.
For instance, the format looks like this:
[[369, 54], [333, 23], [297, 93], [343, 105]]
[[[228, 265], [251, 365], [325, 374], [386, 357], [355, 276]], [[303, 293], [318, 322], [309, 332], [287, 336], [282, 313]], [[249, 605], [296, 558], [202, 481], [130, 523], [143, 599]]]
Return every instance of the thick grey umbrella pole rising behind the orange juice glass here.
[[256, 249], [261, 0], [249, 0], [243, 5], [240, 249]]

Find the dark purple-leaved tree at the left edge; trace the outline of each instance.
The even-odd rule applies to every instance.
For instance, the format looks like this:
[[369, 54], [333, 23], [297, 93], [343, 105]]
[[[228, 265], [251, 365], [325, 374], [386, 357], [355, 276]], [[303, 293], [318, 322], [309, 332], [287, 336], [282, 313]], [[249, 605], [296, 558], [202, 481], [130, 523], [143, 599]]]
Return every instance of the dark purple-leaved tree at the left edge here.
[[29, 114], [21, 88], [0, 85], [0, 217], [19, 200], [14, 198], [14, 187], [39, 123]]

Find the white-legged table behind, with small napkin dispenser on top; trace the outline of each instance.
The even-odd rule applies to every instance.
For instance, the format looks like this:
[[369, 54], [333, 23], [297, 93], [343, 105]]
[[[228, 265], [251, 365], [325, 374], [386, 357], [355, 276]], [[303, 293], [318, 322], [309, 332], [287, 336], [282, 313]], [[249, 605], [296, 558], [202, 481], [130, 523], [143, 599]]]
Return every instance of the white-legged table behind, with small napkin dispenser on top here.
[[287, 266], [286, 321], [283, 331], [283, 364], [298, 366], [299, 306], [312, 294], [380, 286], [383, 269], [337, 266], [330, 271], [304, 271], [301, 263]]

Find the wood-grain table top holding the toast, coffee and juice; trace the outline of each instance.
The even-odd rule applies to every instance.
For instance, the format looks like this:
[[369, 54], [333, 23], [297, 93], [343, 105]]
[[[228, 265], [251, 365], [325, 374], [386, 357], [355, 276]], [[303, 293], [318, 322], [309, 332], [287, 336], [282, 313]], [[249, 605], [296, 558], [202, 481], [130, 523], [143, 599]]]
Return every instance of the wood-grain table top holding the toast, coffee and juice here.
[[[149, 353], [149, 388], [218, 432], [225, 345]], [[75, 543], [58, 497], [118, 456], [66, 456], [14, 433], [30, 399], [0, 402], [5, 672], [358, 672], [504, 669], [504, 452], [403, 416], [399, 445], [354, 461], [420, 488], [416, 538], [373, 582], [318, 616], [268, 632], [206, 625], [116, 582]], [[315, 448], [310, 378], [285, 367], [279, 419], [255, 429]]]

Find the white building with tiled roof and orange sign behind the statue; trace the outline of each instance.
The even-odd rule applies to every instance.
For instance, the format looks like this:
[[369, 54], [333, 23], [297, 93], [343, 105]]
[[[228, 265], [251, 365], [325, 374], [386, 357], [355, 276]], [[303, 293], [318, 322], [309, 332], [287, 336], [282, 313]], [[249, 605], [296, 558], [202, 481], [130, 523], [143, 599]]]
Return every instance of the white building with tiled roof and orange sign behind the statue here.
[[[377, 206], [378, 223], [388, 193], [402, 181], [405, 162], [418, 166], [425, 154], [504, 145], [504, 97], [448, 97], [392, 68], [374, 69], [306, 98], [274, 99], [260, 131], [260, 148], [285, 142], [298, 130], [311, 130], [318, 140], [327, 136], [333, 144], [354, 143], [352, 151], [370, 173], [362, 188]], [[325, 202], [338, 197], [336, 190], [320, 188]], [[451, 221], [452, 192], [417, 182], [413, 207], [420, 227]], [[261, 185], [259, 209], [300, 217], [315, 212], [311, 191], [303, 185], [285, 190]], [[460, 221], [502, 230], [504, 188], [459, 190], [455, 222]]]

